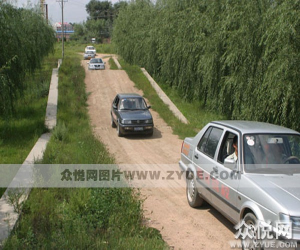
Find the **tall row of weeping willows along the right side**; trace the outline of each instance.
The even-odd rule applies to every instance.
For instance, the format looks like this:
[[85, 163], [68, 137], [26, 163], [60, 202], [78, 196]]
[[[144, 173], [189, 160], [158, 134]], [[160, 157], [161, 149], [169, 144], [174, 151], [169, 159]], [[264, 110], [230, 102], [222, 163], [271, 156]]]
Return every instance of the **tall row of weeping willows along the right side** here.
[[300, 130], [300, 1], [130, 1], [112, 42], [186, 100]]

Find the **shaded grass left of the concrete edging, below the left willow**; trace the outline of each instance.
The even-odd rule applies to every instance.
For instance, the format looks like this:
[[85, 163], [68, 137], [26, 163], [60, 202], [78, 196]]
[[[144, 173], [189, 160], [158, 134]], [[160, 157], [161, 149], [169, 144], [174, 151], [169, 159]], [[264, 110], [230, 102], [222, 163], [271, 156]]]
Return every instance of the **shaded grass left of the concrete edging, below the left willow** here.
[[[57, 66], [57, 54], [49, 55], [41, 68], [24, 79], [24, 96], [10, 117], [0, 117], [0, 163], [23, 163], [44, 126], [47, 95], [52, 68]], [[0, 188], [0, 196], [6, 188]]]

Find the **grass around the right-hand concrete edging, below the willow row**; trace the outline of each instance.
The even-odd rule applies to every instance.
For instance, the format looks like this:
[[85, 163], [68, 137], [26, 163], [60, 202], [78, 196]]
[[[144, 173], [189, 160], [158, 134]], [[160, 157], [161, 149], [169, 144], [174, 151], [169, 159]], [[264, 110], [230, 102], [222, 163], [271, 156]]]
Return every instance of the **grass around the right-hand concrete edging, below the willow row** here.
[[168, 88], [167, 85], [160, 84], [160, 87], [189, 121], [188, 124], [182, 123], [159, 98], [138, 66], [130, 65], [123, 60], [120, 60], [120, 63], [136, 87], [143, 91], [153, 110], [159, 113], [160, 117], [172, 127], [173, 132], [179, 135], [180, 138], [194, 136], [207, 122], [224, 118], [205, 111], [200, 102], [184, 101], [175, 90]]

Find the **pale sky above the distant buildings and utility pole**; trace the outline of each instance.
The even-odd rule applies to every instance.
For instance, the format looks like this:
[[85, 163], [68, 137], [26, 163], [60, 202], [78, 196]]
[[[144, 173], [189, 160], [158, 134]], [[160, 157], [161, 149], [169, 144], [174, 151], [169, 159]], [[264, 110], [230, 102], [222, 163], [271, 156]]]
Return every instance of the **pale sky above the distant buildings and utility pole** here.
[[[35, 6], [39, 4], [39, 0], [12, 0], [16, 2], [14, 5], [18, 7]], [[89, 0], [64, 0], [63, 4], [63, 22], [82, 22], [86, 21], [88, 14], [85, 10], [85, 5]], [[119, 0], [110, 0], [113, 4]], [[45, 0], [48, 4], [48, 19], [53, 24], [55, 22], [61, 22], [61, 0]]]

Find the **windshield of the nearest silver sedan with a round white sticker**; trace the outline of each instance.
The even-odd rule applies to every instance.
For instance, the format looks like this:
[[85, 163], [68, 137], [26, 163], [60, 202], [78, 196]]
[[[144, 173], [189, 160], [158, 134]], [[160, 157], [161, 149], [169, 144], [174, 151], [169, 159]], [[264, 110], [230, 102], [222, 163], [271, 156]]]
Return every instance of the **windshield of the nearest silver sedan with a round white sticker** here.
[[252, 173], [300, 173], [298, 134], [243, 135], [244, 169]]

